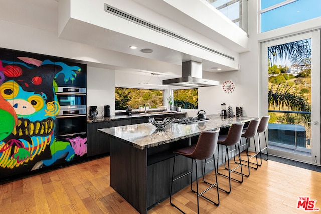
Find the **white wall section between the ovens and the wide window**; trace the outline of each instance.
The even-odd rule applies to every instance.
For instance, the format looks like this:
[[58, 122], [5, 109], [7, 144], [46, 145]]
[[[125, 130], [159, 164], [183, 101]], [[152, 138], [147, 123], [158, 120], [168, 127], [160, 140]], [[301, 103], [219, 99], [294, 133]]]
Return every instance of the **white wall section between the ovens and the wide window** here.
[[115, 115], [115, 71], [87, 67], [87, 112], [89, 106], [97, 106], [102, 116], [104, 106], [110, 105], [110, 114]]

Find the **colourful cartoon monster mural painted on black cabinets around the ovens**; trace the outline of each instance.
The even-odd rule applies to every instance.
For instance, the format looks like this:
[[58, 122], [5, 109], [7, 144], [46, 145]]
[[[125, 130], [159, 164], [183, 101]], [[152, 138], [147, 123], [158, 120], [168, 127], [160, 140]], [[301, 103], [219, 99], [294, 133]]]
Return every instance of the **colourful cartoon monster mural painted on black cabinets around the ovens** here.
[[57, 77], [73, 82], [81, 68], [18, 54], [0, 50], [0, 177], [87, 153], [86, 138], [55, 138]]

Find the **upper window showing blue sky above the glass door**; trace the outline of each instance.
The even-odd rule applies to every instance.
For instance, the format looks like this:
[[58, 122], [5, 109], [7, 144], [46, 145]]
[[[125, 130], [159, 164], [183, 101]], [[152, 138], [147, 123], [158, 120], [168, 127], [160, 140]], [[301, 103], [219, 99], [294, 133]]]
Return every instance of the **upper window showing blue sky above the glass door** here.
[[261, 0], [261, 32], [321, 16], [319, 0]]

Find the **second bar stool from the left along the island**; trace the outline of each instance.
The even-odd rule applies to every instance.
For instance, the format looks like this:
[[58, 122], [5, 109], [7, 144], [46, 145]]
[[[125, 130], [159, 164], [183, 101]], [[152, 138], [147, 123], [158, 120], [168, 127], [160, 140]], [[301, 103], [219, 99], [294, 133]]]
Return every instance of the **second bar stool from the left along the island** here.
[[[236, 149], [236, 146], [240, 140], [241, 140], [241, 135], [242, 135], [242, 130], [243, 130], [243, 127], [244, 127], [244, 123], [234, 123], [232, 124], [232, 126], [230, 127], [227, 135], [220, 135], [219, 136], [219, 139], [218, 139], [218, 145], [222, 145], [222, 146], [225, 146], [226, 147], [226, 150], [225, 150], [225, 163], [224, 163], [224, 167], [225, 169], [228, 170], [228, 176], [227, 175], [224, 175], [222, 173], [219, 173], [217, 172], [217, 174], [219, 175], [222, 175], [226, 178], [229, 178], [229, 190], [224, 190], [222, 188], [219, 188], [221, 189], [222, 191], [226, 192], [226, 193], [231, 193], [231, 180], [234, 180], [234, 181], [237, 181], [239, 183], [242, 183], [243, 182], [243, 171], [242, 171], [242, 164], [239, 164], [238, 166], [236, 166], [234, 169], [230, 169], [230, 158], [229, 158], [229, 153], [230, 152], [233, 152], [235, 151]], [[231, 150], [229, 151], [228, 149], [228, 146], [235, 146], [234, 150]], [[219, 151], [220, 151], [220, 146], [218, 146], [218, 149], [217, 149], [217, 157], [219, 157]], [[239, 152], [239, 160], [241, 159], [240, 157], [240, 152]], [[228, 167], [226, 168], [226, 158], [227, 158], [227, 165]], [[214, 158], [214, 155], [213, 155], [213, 159]], [[218, 164], [218, 163], [217, 163]], [[235, 171], [237, 168], [241, 168], [241, 173], [240, 172], [237, 172]], [[205, 168], [205, 166], [204, 166]], [[231, 172], [235, 172], [237, 174], [240, 174], [241, 175], [241, 180], [238, 180], [238, 179], [235, 179], [235, 178], [232, 178], [231, 177]]]

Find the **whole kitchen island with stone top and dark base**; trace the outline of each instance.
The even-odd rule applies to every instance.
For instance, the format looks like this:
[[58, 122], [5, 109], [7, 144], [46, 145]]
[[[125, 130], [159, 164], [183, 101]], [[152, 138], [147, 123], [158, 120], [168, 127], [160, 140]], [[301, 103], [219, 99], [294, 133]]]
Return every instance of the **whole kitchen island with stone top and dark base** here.
[[[170, 196], [174, 149], [196, 143], [202, 131], [216, 128], [224, 131], [233, 123], [254, 119], [223, 118], [218, 115], [207, 117], [209, 120], [206, 122], [189, 125], [171, 123], [164, 131], [157, 131], [150, 123], [98, 129], [110, 138], [110, 186], [137, 211], [147, 213], [148, 209]], [[182, 156], [177, 161], [180, 165], [178, 173], [191, 166], [190, 161]], [[213, 167], [209, 166], [210, 170]], [[189, 183], [190, 179], [182, 179], [174, 191], [179, 191]]]

